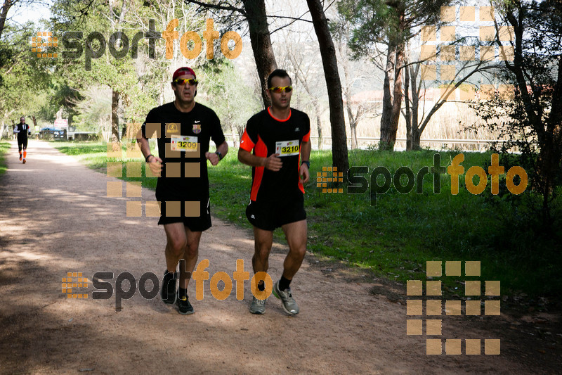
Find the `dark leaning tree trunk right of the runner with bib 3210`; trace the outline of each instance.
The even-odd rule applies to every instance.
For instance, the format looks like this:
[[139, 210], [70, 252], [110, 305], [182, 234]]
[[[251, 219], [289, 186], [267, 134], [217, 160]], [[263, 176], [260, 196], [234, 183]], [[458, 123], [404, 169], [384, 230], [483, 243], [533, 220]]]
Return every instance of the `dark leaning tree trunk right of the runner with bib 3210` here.
[[349, 161], [347, 155], [346, 120], [344, 118], [344, 101], [341, 98], [341, 81], [339, 80], [336, 49], [329, 33], [328, 21], [320, 0], [306, 0], [318, 37], [320, 56], [324, 66], [324, 76], [328, 87], [329, 120], [332, 125], [332, 163], [341, 172], [347, 172]]

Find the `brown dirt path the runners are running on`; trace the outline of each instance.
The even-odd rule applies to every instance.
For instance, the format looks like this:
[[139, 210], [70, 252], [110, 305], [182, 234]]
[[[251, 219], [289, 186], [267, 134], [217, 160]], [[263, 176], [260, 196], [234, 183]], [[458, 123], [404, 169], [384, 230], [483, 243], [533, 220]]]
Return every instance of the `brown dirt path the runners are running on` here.
[[[209, 281], [204, 299], [197, 301], [192, 283], [196, 312], [190, 316], [139, 293], [116, 312], [115, 295], [91, 299], [93, 274], [131, 272], [138, 280], [154, 272], [161, 277], [162, 227], [154, 217], [126, 217], [126, 201], [139, 198], [106, 198], [106, 182], [117, 179], [41, 141], [30, 141], [28, 163], [22, 165], [16, 147], [12, 143], [8, 172], [0, 181], [2, 374], [525, 374], [556, 369], [554, 364], [541, 369], [540, 358], [520, 362], [528, 348], [518, 338], [502, 336], [513, 328], [505, 319], [490, 331], [482, 326], [483, 317], [468, 323], [443, 317], [443, 338], [502, 338], [502, 355], [426, 355], [426, 336], [406, 335], [403, 304], [370, 295], [372, 284], [322, 272], [311, 256], [293, 283], [301, 306], [295, 317], [288, 317], [273, 296], [265, 315], [249, 314], [249, 281], [243, 301], [236, 300], [234, 289], [226, 300], [216, 300]], [[143, 189], [142, 199], [152, 201], [154, 193]], [[211, 276], [218, 271], [232, 276], [239, 258], [251, 271], [251, 236], [221, 220], [213, 224], [200, 246], [200, 260], [209, 259]], [[279, 252], [271, 256], [273, 279], [283, 258]], [[89, 299], [68, 300], [61, 293], [67, 272], [89, 278]]]

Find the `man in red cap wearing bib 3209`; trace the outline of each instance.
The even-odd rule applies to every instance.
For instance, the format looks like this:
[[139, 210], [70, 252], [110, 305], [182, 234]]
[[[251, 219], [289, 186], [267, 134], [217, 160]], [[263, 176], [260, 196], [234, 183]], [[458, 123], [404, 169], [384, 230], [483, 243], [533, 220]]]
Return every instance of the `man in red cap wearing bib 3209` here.
[[[202, 231], [211, 227], [207, 160], [217, 165], [228, 152], [228, 145], [214, 111], [195, 103], [195, 72], [183, 67], [172, 77], [176, 100], [150, 110], [137, 141], [152, 174], [158, 176], [158, 224], [164, 225], [167, 238], [162, 300], [169, 305], [176, 303], [180, 314], [192, 314], [187, 294], [189, 276], [197, 263]], [[158, 157], [150, 153], [147, 138], [151, 137], [157, 137]], [[209, 153], [211, 139], [216, 153]], [[176, 293], [176, 267], [181, 259], [185, 267], [180, 267]]]

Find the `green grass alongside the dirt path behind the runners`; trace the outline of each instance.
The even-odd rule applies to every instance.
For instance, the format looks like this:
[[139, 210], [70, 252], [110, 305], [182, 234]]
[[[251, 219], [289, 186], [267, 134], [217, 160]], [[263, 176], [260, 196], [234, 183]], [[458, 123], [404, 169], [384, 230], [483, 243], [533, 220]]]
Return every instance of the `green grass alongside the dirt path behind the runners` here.
[[[100, 143], [57, 142], [55, 147], [76, 155], [102, 172], [108, 161], [142, 161], [107, 158], [106, 146]], [[249, 203], [251, 169], [237, 161], [236, 152], [230, 150], [218, 166], [209, 166], [211, 210], [222, 219], [251, 229], [244, 214]], [[398, 167], [407, 166], [417, 175], [422, 167], [433, 165], [435, 153], [358, 150], [350, 152], [349, 163], [367, 166], [369, 173], [365, 177], [370, 181], [370, 172], [378, 166], [386, 167], [391, 174]], [[458, 153], [440, 152], [440, 165], [450, 165], [450, 160]], [[490, 153], [464, 155], [465, 173], [473, 165], [488, 170]], [[344, 193], [322, 193], [316, 187], [316, 175], [322, 172], [322, 167], [330, 165], [329, 151], [313, 151], [311, 182], [305, 186], [308, 249], [313, 253], [402, 283], [425, 279], [428, 260], [480, 260], [481, 277], [471, 279], [500, 280], [504, 295], [514, 291], [553, 295], [562, 286], [561, 252], [554, 250], [559, 248], [562, 239], [561, 225], [553, 226], [554, 233], [542, 233], [535, 220], [536, 198], [530, 193], [530, 187], [521, 196], [513, 196], [505, 184], [500, 183], [499, 195], [492, 196], [488, 178], [485, 191], [473, 195], [466, 190], [462, 175], [459, 193], [452, 195], [450, 175], [442, 174], [440, 193], [436, 194], [433, 193], [433, 175], [427, 174], [421, 193], [416, 192], [415, 186], [407, 194], [391, 186], [386, 193], [372, 199], [372, 189], [362, 194], [347, 194], [346, 184], [342, 183], [337, 186], [342, 187]], [[147, 177], [123, 179], [143, 181], [143, 186], [152, 189], [156, 183], [156, 179]], [[377, 183], [382, 184], [382, 181]], [[554, 203], [558, 212], [559, 201]], [[275, 239], [285, 242], [280, 229], [275, 231]], [[462, 297], [464, 287], [459, 281], [464, 277], [442, 279], [445, 293]]]

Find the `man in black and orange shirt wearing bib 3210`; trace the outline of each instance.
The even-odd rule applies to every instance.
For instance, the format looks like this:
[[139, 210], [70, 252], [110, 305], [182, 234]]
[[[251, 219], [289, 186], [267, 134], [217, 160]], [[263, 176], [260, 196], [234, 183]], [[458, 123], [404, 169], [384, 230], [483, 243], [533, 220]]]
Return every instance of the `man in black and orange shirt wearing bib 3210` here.
[[[268, 94], [270, 108], [248, 120], [238, 151], [238, 160], [252, 167], [250, 204], [246, 209], [246, 216], [254, 226], [255, 249], [251, 262], [254, 273], [267, 272], [273, 230], [282, 227], [289, 253], [283, 274], [273, 285], [273, 294], [281, 298], [285, 312], [298, 314], [299, 306], [289, 284], [306, 253], [303, 183], [309, 179], [311, 122], [306, 113], [291, 108], [291, 77], [285, 70], [277, 69], [269, 75]], [[265, 289], [263, 281], [258, 288]], [[254, 297], [250, 312], [263, 314], [265, 303]]]

